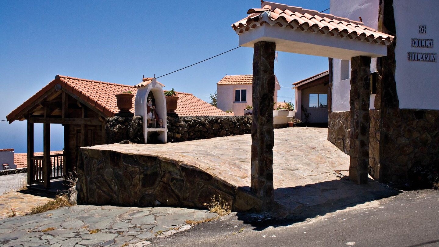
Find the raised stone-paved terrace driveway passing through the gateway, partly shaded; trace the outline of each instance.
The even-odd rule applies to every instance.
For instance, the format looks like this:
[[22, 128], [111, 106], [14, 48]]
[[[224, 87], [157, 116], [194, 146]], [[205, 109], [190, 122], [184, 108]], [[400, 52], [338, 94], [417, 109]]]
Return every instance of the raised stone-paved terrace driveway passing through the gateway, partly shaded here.
[[[335, 170], [349, 169], [349, 156], [327, 141], [327, 128], [275, 129], [274, 139], [275, 200], [289, 210], [325, 203], [339, 207], [373, 200], [382, 196], [381, 192], [389, 192], [371, 179], [367, 185], [355, 185], [335, 173]], [[250, 146], [251, 135], [245, 134], [158, 145], [99, 145], [87, 149], [178, 160], [249, 190]]]

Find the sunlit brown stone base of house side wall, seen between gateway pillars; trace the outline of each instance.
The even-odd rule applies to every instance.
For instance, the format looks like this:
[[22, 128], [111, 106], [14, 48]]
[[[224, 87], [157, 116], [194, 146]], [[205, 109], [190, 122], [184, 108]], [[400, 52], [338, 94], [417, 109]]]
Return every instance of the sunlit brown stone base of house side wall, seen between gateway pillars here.
[[349, 154], [350, 111], [331, 112], [328, 114], [328, 141], [338, 149]]

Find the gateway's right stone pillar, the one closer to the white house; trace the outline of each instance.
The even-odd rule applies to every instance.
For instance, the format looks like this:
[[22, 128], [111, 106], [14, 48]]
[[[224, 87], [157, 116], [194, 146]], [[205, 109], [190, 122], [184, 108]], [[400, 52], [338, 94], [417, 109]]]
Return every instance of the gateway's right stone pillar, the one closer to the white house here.
[[351, 59], [351, 106], [349, 179], [367, 183], [369, 169], [369, 101], [371, 98], [371, 58]]

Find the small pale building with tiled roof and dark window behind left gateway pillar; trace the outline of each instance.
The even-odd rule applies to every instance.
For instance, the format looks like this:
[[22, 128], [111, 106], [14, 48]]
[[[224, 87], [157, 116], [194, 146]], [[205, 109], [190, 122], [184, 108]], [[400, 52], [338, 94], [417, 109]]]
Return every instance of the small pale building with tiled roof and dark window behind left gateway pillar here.
[[[277, 91], [281, 85], [274, 76], [274, 108], [277, 107]], [[216, 84], [217, 107], [223, 111], [231, 110], [235, 116], [243, 116], [246, 105], [252, 105], [253, 75], [224, 76]]]

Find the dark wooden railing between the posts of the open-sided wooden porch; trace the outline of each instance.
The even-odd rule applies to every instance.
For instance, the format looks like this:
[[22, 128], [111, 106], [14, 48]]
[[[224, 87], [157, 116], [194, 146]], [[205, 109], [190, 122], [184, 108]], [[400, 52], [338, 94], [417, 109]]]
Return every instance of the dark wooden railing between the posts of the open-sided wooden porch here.
[[[42, 183], [43, 182], [43, 157], [44, 156], [34, 156], [31, 157], [33, 166], [33, 182]], [[50, 155], [50, 179], [61, 178], [64, 166], [64, 154], [52, 154]]]

